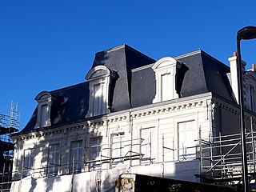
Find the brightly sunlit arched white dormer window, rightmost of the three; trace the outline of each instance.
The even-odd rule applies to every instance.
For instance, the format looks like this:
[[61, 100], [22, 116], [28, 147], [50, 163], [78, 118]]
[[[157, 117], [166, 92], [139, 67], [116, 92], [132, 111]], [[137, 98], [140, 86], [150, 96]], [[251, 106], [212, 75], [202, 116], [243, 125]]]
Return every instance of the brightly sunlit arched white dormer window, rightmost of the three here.
[[153, 102], [164, 102], [179, 98], [184, 75], [188, 68], [170, 57], [161, 58], [152, 69], [156, 79], [156, 94]]

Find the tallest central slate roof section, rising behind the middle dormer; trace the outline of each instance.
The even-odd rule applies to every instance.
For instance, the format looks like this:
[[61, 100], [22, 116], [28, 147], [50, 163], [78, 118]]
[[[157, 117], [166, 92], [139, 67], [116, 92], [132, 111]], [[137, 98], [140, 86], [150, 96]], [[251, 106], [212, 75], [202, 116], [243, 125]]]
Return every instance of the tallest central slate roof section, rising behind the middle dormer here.
[[115, 70], [119, 76], [114, 87], [112, 111], [127, 110], [131, 107], [131, 70], [154, 62], [154, 59], [127, 45], [114, 47], [95, 55], [92, 68], [103, 65]]

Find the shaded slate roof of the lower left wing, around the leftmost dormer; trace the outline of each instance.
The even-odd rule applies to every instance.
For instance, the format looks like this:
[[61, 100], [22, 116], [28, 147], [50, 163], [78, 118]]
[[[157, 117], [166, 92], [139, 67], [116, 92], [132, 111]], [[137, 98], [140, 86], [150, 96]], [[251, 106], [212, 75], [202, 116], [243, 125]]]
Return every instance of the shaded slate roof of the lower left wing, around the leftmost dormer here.
[[[51, 127], [65, 125], [70, 122], [81, 122], [85, 119], [89, 106], [88, 82], [50, 91], [50, 94], [54, 97], [50, 108]], [[21, 132], [33, 130], [37, 116], [38, 108], [34, 110], [30, 121]]]

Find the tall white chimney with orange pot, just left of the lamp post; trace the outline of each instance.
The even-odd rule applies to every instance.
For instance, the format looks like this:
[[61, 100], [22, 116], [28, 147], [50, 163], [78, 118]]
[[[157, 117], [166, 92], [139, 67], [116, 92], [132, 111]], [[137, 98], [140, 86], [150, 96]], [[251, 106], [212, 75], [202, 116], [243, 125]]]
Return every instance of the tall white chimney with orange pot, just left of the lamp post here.
[[[231, 87], [234, 93], [234, 98], [238, 102], [238, 63], [237, 63], [237, 53], [234, 52], [233, 57], [229, 58], [230, 62], [230, 78]], [[245, 71], [246, 62], [242, 62], [242, 74]], [[244, 79], [244, 76], [243, 76]], [[239, 104], [239, 103], [238, 103]]]

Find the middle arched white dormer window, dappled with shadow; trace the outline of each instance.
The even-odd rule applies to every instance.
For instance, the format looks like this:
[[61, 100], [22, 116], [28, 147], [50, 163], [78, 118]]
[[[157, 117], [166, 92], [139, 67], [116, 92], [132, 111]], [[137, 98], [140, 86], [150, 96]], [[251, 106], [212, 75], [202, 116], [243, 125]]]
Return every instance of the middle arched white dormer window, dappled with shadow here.
[[106, 66], [95, 66], [86, 74], [89, 82], [89, 110], [86, 118], [110, 113], [110, 84], [116, 73]]

